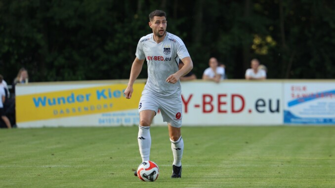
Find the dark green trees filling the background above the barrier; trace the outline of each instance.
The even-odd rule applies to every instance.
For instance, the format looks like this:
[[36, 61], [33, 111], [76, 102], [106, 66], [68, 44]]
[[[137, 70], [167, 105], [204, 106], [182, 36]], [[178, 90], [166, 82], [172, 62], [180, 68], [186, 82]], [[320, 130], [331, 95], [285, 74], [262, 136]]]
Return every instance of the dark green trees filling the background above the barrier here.
[[[251, 58], [269, 78], [335, 77], [335, 2], [327, 0], [0, 0], [0, 74], [9, 83], [21, 67], [32, 81], [127, 79], [154, 9], [167, 12], [168, 32], [183, 39], [198, 77], [211, 56], [229, 78], [243, 78]], [[275, 44], [254, 48], [254, 36]]]

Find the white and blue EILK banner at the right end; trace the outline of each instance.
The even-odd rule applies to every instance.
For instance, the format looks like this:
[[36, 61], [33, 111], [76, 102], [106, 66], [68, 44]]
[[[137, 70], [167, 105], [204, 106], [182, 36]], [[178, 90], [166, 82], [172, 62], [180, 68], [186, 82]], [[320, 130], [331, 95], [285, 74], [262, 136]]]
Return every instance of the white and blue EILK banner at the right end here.
[[335, 124], [335, 82], [289, 82], [284, 91], [284, 123]]

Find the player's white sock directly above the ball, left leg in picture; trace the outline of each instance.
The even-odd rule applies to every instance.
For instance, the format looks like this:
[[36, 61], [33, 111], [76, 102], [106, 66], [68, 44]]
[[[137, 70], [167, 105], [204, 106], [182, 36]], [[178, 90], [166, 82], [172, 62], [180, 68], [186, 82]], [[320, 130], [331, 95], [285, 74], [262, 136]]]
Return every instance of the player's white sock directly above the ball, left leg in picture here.
[[137, 140], [142, 162], [149, 160], [151, 148], [150, 127], [142, 127], [139, 125]]

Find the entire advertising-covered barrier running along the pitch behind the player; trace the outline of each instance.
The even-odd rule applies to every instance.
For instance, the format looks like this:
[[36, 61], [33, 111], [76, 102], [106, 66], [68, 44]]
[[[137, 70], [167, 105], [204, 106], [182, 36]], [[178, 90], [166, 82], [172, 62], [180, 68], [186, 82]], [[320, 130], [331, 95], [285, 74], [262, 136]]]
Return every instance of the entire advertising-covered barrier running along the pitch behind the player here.
[[[17, 126], [137, 125], [145, 81], [135, 82], [130, 100], [123, 96], [127, 80], [17, 85]], [[181, 85], [178, 118], [183, 126], [335, 125], [335, 80], [193, 80]], [[153, 125], [166, 125], [160, 113]]]

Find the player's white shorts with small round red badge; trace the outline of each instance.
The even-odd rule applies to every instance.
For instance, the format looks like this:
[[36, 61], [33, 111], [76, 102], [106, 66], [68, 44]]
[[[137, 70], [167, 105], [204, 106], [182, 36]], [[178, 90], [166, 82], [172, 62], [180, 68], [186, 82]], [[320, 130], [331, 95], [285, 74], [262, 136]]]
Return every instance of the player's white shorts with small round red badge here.
[[138, 113], [144, 110], [152, 110], [157, 114], [160, 110], [164, 122], [179, 128], [181, 127], [182, 108], [181, 96], [157, 97], [149, 92], [142, 92], [138, 104]]

